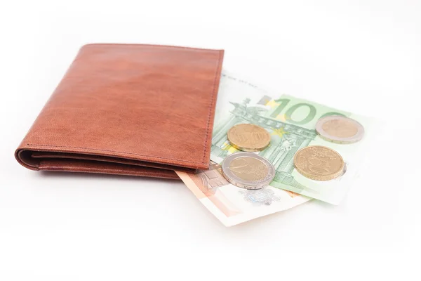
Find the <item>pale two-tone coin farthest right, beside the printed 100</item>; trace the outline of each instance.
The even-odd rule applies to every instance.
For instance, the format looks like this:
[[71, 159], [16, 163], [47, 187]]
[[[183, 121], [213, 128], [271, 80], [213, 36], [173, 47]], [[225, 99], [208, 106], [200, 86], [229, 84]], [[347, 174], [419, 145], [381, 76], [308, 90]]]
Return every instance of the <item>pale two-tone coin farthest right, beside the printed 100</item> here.
[[319, 119], [316, 131], [325, 141], [332, 143], [356, 143], [364, 136], [363, 125], [354, 119], [332, 115]]

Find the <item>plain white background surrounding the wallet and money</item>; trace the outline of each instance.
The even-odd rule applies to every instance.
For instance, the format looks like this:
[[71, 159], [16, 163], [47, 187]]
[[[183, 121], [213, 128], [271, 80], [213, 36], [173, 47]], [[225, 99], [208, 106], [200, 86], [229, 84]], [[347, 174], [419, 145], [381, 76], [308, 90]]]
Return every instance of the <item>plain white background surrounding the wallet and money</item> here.
[[[1, 1], [0, 15], [0, 280], [420, 280], [420, 1]], [[227, 70], [385, 134], [340, 206], [232, 228], [178, 181], [24, 169], [15, 148], [93, 42], [224, 48]]]

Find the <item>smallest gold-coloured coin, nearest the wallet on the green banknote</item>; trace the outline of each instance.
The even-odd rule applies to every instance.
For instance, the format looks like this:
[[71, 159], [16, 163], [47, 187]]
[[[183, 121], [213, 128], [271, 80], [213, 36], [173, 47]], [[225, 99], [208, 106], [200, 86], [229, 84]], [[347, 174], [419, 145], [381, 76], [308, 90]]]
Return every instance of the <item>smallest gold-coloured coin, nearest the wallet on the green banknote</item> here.
[[264, 150], [270, 143], [269, 133], [254, 124], [238, 124], [227, 133], [229, 143], [236, 149], [255, 152]]

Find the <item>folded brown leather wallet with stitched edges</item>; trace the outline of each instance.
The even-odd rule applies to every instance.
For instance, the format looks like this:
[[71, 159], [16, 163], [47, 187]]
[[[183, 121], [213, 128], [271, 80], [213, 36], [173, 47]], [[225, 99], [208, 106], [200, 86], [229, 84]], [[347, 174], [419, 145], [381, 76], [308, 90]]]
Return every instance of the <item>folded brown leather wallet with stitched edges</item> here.
[[16, 159], [32, 170], [160, 178], [207, 169], [223, 54], [83, 46]]

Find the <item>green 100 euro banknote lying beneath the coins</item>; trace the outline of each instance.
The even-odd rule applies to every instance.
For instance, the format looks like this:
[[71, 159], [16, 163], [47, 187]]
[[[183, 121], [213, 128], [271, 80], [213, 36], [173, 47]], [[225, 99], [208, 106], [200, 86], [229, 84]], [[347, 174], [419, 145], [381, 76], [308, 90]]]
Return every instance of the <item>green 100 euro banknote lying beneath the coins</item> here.
[[[337, 144], [320, 138], [315, 130], [321, 117], [342, 115], [364, 126], [362, 141]], [[367, 117], [337, 110], [309, 100], [269, 93], [246, 79], [222, 72], [213, 128], [210, 159], [220, 164], [227, 155], [238, 152], [227, 140], [227, 131], [235, 124], [262, 126], [271, 135], [270, 145], [258, 152], [272, 162], [276, 170], [273, 188], [290, 190], [330, 204], [339, 204], [357, 175], [373, 134], [373, 122]], [[314, 181], [295, 170], [295, 153], [308, 145], [323, 145], [340, 153], [345, 173], [331, 181]]]

